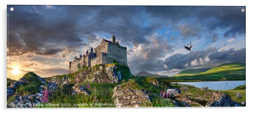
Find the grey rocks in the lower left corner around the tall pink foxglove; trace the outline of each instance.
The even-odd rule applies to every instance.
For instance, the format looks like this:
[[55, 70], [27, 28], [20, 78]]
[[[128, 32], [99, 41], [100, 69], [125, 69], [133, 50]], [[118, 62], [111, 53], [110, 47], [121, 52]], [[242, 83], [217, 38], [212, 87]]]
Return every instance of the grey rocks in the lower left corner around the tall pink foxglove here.
[[[39, 88], [37, 93], [31, 93], [27, 95], [14, 95], [17, 88], [20, 86], [26, 85], [38, 85]], [[23, 78], [20, 78], [17, 82], [13, 82], [10, 87], [7, 88], [7, 99], [8, 105], [7, 107], [35, 107], [33, 104], [37, 104], [42, 102], [43, 98], [43, 90], [46, 85], [46, 80], [37, 76], [35, 73], [28, 72]], [[47, 82], [48, 94], [51, 95], [54, 93], [57, 88], [57, 84]], [[18, 106], [14, 106], [18, 105]]]

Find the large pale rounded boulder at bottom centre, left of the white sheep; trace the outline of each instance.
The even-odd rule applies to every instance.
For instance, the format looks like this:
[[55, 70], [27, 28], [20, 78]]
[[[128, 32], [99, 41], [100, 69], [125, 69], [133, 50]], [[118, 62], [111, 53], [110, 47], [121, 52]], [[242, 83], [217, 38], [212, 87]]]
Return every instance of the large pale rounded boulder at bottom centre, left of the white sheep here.
[[143, 103], [151, 102], [148, 93], [144, 90], [131, 88], [122, 88], [122, 85], [117, 85], [113, 89], [114, 103], [116, 107], [141, 107]]

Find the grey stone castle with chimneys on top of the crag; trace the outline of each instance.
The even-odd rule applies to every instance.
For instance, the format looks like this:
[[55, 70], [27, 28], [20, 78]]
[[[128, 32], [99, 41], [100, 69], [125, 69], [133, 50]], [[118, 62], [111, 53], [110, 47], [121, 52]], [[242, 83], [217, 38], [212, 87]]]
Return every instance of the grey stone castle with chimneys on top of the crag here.
[[94, 65], [105, 65], [115, 62], [127, 65], [127, 48], [119, 45], [116, 37], [112, 36], [112, 41], [102, 38], [100, 45], [97, 48], [91, 48], [91, 51], [86, 51], [86, 54], [81, 54], [80, 57], [75, 56], [73, 62], [69, 62], [69, 73], [78, 71], [83, 67], [93, 67]]

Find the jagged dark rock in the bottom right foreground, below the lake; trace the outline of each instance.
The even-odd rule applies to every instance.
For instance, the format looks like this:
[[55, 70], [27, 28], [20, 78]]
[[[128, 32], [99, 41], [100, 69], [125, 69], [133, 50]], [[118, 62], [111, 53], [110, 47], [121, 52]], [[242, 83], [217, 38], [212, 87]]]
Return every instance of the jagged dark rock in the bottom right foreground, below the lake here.
[[228, 94], [223, 92], [213, 93], [206, 107], [230, 107], [241, 106], [237, 102], [234, 102]]

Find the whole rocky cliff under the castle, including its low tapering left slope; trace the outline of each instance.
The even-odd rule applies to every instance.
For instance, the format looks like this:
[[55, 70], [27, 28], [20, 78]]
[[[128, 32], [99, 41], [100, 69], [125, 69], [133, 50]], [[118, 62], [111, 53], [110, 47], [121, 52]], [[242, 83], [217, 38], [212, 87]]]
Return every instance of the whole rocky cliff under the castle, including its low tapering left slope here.
[[86, 67], [75, 73], [68, 75], [54, 76], [46, 78], [46, 81], [58, 85], [66, 85], [74, 83], [79, 85], [84, 82], [91, 83], [118, 83], [122, 76], [125, 76], [121, 70], [117, 70], [116, 64], [96, 65], [94, 67]]

